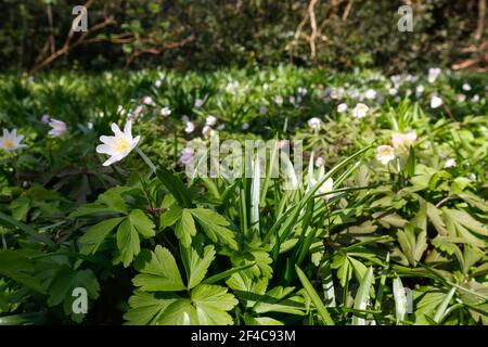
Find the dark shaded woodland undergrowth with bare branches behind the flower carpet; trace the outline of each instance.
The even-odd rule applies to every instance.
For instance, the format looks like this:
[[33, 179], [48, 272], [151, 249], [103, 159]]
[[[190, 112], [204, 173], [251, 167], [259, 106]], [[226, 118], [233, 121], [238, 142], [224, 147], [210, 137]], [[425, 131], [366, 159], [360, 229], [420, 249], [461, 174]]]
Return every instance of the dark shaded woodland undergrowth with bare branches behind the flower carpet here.
[[[88, 8], [89, 33], [69, 36], [78, 4]], [[413, 33], [397, 29], [403, 4], [414, 11]], [[486, 0], [3, 0], [0, 69], [294, 63], [386, 73], [425, 64], [486, 70]]]

